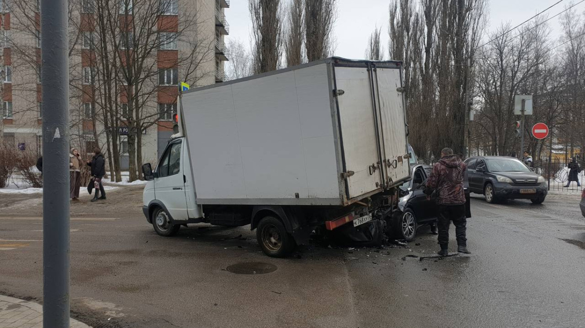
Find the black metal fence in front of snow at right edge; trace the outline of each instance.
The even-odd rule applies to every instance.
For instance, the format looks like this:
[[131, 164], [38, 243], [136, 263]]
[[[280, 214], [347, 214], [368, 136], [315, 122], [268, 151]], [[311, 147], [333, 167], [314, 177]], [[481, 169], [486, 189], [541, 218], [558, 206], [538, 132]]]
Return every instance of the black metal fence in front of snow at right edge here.
[[549, 160], [547, 158], [546, 160], [535, 161], [534, 170], [546, 179], [549, 190], [567, 192], [583, 191], [583, 185], [581, 182], [583, 182], [583, 174], [585, 173], [583, 171], [585, 161], [577, 161], [581, 168], [581, 172], [577, 174], [578, 182], [569, 181], [569, 163], [570, 160], [565, 161], [557, 158]]

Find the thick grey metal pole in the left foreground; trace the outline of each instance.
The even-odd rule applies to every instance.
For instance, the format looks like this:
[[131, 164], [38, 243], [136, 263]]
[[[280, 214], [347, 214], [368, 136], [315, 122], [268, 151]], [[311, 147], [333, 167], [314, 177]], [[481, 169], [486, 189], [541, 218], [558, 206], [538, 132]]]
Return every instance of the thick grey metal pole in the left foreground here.
[[67, 0], [41, 0], [43, 327], [69, 327], [69, 63]]

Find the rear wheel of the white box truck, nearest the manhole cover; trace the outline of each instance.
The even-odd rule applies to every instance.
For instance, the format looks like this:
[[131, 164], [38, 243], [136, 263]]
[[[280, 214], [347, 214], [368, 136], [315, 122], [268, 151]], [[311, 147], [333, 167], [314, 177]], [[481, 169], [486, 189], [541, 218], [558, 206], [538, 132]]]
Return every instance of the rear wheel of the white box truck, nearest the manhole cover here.
[[256, 239], [264, 254], [270, 257], [286, 257], [296, 244], [280, 220], [265, 216], [256, 228]]

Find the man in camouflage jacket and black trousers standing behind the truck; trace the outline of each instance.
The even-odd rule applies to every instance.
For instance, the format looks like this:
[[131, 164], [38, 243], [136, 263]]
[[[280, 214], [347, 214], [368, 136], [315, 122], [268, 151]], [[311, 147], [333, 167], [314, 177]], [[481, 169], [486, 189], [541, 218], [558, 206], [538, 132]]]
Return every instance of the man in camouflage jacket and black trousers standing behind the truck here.
[[441, 160], [433, 165], [433, 170], [426, 181], [425, 194], [430, 198], [436, 191], [436, 203], [439, 210], [439, 246], [438, 252], [441, 256], [449, 254], [449, 225], [453, 221], [457, 238], [457, 251], [470, 254], [467, 250], [465, 217], [465, 189], [463, 180], [467, 165], [461, 161], [459, 156], [453, 155], [453, 150], [445, 148], [441, 151]]

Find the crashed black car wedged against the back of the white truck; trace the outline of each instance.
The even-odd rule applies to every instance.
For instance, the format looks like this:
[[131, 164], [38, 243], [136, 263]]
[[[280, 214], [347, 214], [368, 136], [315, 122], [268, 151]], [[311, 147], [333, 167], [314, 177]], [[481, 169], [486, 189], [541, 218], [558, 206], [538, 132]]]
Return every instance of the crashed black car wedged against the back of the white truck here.
[[[394, 213], [390, 222], [390, 229], [394, 237], [412, 241], [417, 236], [417, 230], [422, 225], [433, 224], [437, 220], [436, 195], [431, 199], [424, 194], [426, 179], [431, 174], [430, 165], [411, 165], [412, 180], [405, 182], [401, 187], [401, 196], [398, 199], [398, 211]], [[469, 189], [464, 182], [465, 198], [467, 199], [467, 217], [471, 217], [469, 203]]]

